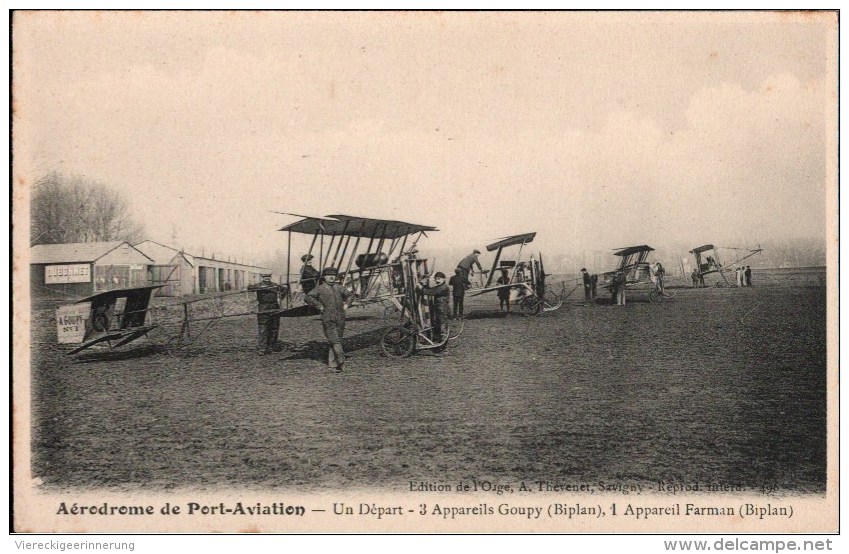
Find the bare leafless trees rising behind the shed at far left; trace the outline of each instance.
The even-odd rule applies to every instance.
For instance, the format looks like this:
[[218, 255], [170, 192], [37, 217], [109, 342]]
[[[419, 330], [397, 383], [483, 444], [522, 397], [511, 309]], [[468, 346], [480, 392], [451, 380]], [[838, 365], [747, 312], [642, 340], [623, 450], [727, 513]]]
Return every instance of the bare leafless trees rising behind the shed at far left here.
[[30, 213], [32, 245], [112, 240], [137, 243], [145, 235], [118, 191], [56, 172], [35, 183]]

